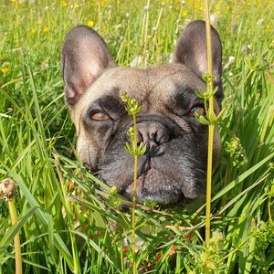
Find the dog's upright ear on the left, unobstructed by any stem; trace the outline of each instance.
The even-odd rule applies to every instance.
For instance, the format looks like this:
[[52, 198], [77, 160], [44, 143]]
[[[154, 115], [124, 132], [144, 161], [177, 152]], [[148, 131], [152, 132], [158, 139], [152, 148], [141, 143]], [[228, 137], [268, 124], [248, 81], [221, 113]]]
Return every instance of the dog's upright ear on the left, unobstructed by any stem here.
[[68, 106], [75, 105], [103, 70], [112, 67], [115, 67], [115, 63], [108, 47], [95, 30], [88, 26], [72, 28], [62, 48], [65, 100]]

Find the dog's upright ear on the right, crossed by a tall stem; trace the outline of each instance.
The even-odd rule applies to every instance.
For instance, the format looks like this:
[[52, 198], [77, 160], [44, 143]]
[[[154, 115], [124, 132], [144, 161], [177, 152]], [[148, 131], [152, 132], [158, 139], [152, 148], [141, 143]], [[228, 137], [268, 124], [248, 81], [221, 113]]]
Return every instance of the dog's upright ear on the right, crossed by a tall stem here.
[[[216, 29], [211, 26], [212, 62], [216, 99], [223, 99], [222, 89], [222, 44]], [[194, 21], [185, 27], [174, 53], [175, 63], [182, 63], [202, 78], [207, 72], [205, 21]]]

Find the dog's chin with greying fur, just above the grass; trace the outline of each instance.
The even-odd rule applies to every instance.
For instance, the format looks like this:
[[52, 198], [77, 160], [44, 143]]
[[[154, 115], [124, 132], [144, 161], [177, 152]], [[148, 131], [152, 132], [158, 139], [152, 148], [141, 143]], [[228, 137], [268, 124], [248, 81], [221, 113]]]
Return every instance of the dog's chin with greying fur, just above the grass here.
[[[160, 205], [179, 205], [188, 203], [195, 196], [186, 197], [184, 190], [176, 187], [172, 177], [156, 169], [149, 169], [137, 178], [136, 200], [139, 203], [155, 202]], [[122, 195], [132, 199], [133, 182], [128, 184]]]

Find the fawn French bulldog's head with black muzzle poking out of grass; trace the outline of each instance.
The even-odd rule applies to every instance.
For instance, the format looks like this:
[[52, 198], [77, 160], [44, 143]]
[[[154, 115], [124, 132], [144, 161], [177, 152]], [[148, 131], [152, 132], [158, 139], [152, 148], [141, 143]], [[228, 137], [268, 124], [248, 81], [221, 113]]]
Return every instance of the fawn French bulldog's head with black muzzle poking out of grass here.
[[[138, 161], [137, 199], [174, 204], [205, 193], [207, 126], [195, 119], [195, 111], [205, 111], [204, 101], [195, 96], [195, 91], [205, 91], [205, 43], [205, 23], [195, 21], [178, 40], [172, 64], [119, 68], [94, 30], [76, 26], [68, 33], [63, 74], [79, 157], [122, 195], [132, 197], [133, 178], [133, 157], [124, 148], [132, 117], [121, 101], [122, 91], [141, 106], [138, 142], [147, 147]], [[222, 49], [213, 27], [212, 44], [216, 98], [220, 100]], [[216, 162], [217, 130], [214, 145]]]

